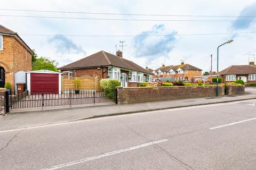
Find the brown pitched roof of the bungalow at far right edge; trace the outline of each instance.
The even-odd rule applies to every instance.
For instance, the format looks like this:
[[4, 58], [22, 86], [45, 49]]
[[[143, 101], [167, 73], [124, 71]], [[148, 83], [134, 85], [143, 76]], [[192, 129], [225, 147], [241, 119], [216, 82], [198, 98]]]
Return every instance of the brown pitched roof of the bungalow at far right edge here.
[[256, 74], [255, 65], [231, 65], [227, 69], [222, 70], [220, 75], [226, 74]]

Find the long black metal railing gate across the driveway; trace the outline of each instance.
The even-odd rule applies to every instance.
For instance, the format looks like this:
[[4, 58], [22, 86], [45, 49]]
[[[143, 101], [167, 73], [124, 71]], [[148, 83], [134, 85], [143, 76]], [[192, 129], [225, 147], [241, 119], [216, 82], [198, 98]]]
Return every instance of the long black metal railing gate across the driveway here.
[[69, 106], [116, 103], [117, 90], [91, 91], [91, 90], [66, 90], [61, 94], [56, 93], [29, 93], [28, 91], [18, 95], [10, 95], [10, 108], [33, 108], [49, 106]]

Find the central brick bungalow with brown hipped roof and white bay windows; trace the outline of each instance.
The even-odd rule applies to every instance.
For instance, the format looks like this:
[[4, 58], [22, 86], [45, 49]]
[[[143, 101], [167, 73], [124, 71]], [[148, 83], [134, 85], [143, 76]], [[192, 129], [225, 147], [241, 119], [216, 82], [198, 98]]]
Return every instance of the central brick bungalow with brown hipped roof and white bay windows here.
[[151, 72], [123, 58], [120, 50], [116, 55], [100, 51], [59, 68], [62, 73], [74, 77], [90, 75], [100, 79], [116, 79], [123, 87], [137, 87], [140, 82], [151, 81]]

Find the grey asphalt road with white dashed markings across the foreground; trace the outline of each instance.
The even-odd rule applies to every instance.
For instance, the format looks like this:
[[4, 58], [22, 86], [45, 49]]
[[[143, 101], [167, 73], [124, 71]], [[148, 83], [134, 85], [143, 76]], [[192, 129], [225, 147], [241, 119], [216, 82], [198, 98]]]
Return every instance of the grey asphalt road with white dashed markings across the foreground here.
[[256, 169], [255, 103], [6, 127], [0, 169]]

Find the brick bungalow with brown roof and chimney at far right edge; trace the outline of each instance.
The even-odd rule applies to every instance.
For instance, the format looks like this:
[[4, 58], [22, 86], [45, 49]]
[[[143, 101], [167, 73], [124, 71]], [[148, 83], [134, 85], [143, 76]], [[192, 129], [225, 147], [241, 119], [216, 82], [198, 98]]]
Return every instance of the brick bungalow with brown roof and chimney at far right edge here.
[[246, 83], [256, 83], [256, 65], [250, 62], [249, 65], [231, 65], [219, 73], [223, 83], [234, 82], [238, 79]]

